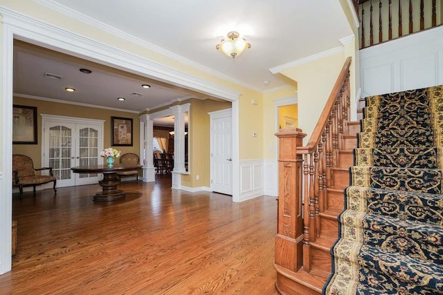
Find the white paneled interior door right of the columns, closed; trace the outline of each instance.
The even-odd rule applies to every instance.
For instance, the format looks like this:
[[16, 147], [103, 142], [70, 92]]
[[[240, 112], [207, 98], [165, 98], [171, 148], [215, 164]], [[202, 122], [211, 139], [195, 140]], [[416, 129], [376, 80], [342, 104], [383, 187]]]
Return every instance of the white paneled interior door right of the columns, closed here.
[[211, 190], [233, 194], [232, 115], [229, 110], [210, 113]]

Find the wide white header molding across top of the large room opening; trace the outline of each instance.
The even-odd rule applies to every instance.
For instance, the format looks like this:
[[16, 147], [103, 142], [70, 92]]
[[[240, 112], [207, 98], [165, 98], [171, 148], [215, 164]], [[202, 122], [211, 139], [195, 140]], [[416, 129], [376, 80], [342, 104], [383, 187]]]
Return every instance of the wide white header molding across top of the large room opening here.
[[82, 58], [91, 57], [93, 61], [114, 64], [128, 72], [231, 102], [236, 101], [241, 94], [230, 88], [188, 75], [169, 66], [102, 44], [8, 8], [0, 6], [0, 13], [3, 15], [4, 26], [11, 28], [17, 39], [21, 37], [25, 41], [37, 41], [37, 44], [51, 49], [71, 55], [75, 53]]

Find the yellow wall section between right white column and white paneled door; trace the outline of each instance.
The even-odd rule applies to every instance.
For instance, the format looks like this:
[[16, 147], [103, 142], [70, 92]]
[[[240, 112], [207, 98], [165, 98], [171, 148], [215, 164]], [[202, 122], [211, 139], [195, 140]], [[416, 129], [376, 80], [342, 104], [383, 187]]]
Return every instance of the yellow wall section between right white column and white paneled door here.
[[[181, 176], [185, 187], [210, 187], [210, 117], [208, 113], [230, 108], [230, 102], [190, 99], [189, 171]], [[196, 176], [199, 175], [199, 180]]]

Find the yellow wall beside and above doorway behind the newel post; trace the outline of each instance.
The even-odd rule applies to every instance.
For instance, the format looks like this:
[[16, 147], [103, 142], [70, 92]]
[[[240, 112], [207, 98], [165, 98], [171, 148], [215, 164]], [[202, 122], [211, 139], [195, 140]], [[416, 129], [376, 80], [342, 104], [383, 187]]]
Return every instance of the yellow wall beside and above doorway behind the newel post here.
[[275, 117], [275, 99], [295, 97], [297, 87], [290, 86], [278, 91], [264, 93], [263, 95], [263, 157], [276, 159], [278, 155], [275, 133], [278, 132], [277, 118]]

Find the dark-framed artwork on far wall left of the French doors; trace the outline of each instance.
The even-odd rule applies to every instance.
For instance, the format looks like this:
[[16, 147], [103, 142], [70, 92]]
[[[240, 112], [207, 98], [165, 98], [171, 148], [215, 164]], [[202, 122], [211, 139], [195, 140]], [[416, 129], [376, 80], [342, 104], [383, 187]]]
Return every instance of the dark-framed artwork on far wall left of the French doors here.
[[12, 144], [37, 144], [37, 108], [12, 107]]

